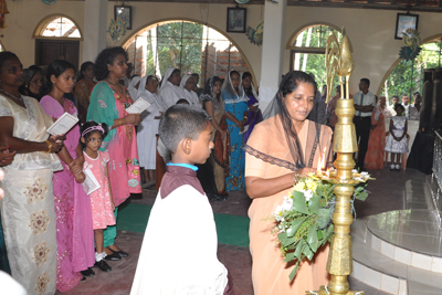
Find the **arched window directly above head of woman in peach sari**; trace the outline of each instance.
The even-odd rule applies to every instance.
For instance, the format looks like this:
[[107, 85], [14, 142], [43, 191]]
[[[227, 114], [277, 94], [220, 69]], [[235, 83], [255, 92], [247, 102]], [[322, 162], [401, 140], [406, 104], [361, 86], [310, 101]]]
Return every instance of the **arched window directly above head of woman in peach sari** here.
[[341, 34], [338, 29], [325, 24], [312, 24], [295, 33], [288, 45], [291, 70], [313, 74], [318, 86], [326, 84], [325, 48], [332, 32], [340, 41]]

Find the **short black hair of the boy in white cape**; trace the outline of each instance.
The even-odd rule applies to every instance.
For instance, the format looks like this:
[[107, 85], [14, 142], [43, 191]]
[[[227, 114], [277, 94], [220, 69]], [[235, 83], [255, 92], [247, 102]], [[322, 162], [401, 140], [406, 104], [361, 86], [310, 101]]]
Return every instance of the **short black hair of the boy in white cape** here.
[[190, 105], [173, 105], [166, 110], [159, 122], [159, 137], [175, 154], [182, 139], [197, 140], [208, 124], [210, 124], [210, 116], [206, 110]]

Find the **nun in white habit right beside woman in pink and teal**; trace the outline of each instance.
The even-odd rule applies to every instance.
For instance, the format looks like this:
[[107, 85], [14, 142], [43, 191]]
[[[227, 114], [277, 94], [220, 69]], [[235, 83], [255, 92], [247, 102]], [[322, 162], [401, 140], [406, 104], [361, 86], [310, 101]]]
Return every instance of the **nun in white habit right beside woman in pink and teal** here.
[[145, 181], [155, 180], [157, 137], [159, 120], [167, 107], [157, 94], [158, 81], [155, 76], [144, 76], [139, 83], [137, 98], [143, 98], [150, 105], [141, 113], [138, 125], [137, 147], [139, 166], [144, 168]]

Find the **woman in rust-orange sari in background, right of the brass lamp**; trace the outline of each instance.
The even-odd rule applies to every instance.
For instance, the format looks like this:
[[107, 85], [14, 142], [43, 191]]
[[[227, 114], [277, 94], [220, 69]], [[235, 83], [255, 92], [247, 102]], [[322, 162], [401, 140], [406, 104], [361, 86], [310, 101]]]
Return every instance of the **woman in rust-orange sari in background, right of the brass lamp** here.
[[386, 117], [391, 117], [385, 96], [380, 96], [371, 115], [371, 130], [364, 165], [367, 169], [383, 169], [386, 147]]

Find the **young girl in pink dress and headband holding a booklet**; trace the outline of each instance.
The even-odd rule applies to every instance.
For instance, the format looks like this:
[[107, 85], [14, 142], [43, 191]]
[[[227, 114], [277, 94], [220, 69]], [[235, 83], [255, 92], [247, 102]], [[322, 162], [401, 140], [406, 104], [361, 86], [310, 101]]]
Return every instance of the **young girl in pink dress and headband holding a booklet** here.
[[84, 148], [84, 170], [91, 169], [101, 186], [101, 188], [92, 192], [90, 197], [96, 244], [95, 266], [103, 272], [112, 271], [112, 267], [104, 261], [106, 252], [103, 250], [103, 230], [106, 229], [107, 225], [115, 224], [115, 206], [112, 199], [107, 169], [109, 154], [98, 150], [107, 131], [108, 128], [105, 123], [98, 124], [93, 120], [85, 123], [81, 128], [81, 143]]

